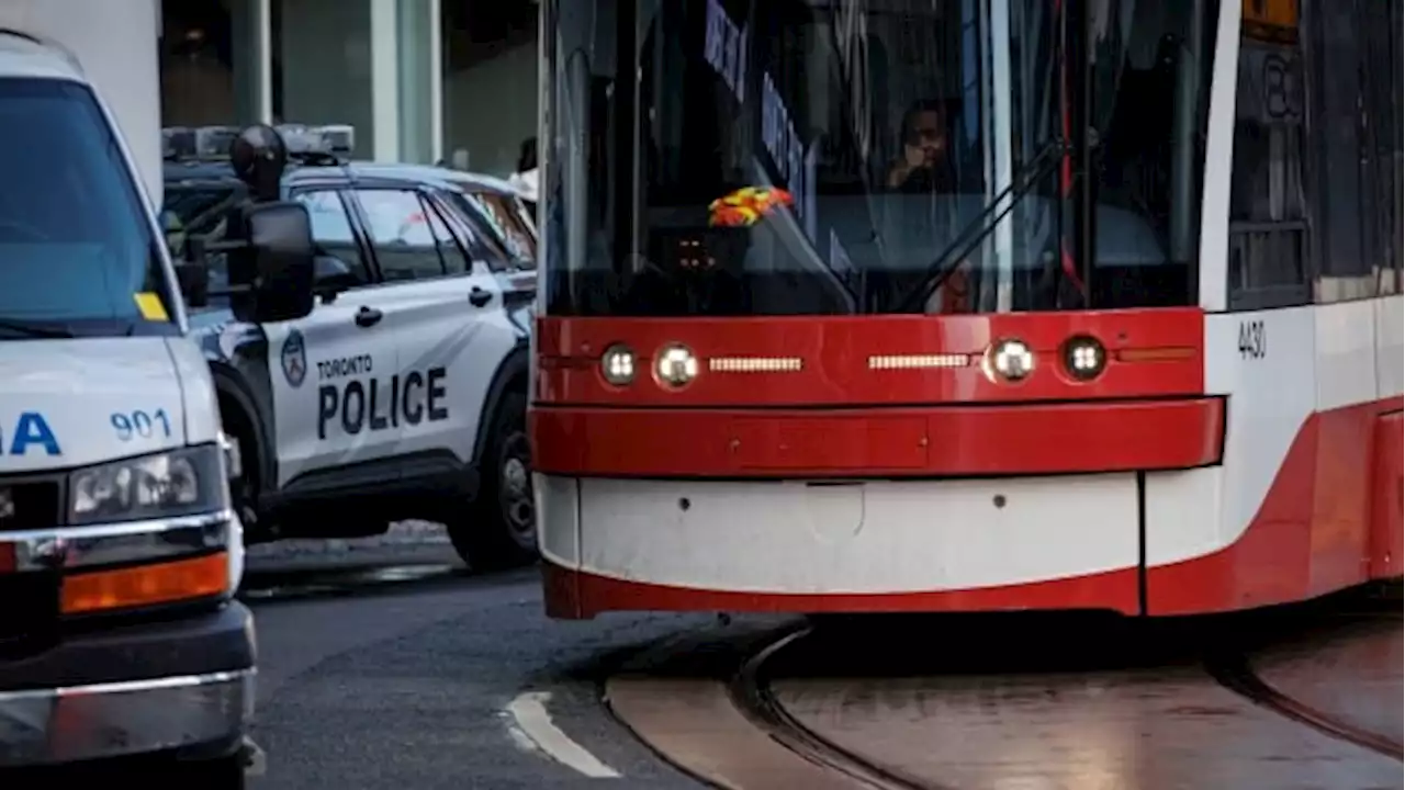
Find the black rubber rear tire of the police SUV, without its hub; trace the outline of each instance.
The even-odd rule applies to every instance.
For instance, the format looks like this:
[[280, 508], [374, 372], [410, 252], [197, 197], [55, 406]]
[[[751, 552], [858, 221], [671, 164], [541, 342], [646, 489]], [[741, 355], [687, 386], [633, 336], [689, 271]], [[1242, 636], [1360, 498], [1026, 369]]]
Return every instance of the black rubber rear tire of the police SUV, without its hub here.
[[527, 550], [513, 537], [499, 498], [504, 453], [510, 446], [521, 446], [518, 443], [524, 443], [525, 437], [527, 398], [521, 394], [507, 395], [493, 417], [479, 471], [482, 485], [478, 496], [462, 514], [447, 524], [454, 550], [475, 571], [502, 571], [537, 559], [535, 548]]

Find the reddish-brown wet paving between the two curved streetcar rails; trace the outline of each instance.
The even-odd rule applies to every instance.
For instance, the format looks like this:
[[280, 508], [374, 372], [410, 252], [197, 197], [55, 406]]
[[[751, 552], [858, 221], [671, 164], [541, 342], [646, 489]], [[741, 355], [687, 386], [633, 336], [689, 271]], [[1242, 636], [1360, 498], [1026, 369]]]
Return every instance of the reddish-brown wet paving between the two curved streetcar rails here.
[[1402, 787], [1405, 766], [1286, 720], [1198, 666], [1093, 676], [785, 680], [785, 710], [923, 787]]

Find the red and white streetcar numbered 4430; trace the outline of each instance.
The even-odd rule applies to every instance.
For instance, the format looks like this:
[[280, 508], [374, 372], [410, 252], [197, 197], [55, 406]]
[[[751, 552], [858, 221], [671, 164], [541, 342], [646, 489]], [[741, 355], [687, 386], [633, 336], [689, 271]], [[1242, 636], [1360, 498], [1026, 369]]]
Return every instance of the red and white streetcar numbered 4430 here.
[[541, 7], [549, 616], [1405, 574], [1405, 3]]

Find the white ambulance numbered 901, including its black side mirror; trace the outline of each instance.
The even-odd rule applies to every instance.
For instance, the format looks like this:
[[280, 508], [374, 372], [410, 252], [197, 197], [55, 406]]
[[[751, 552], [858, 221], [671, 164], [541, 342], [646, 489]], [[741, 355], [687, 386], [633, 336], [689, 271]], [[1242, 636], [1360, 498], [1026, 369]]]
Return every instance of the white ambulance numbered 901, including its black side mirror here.
[[[133, 760], [243, 786], [254, 630], [233, 454], [153, 211], [157, 35], [156, 0], [0, 0], [0, 786]], [[311, 311], [260, 298], [311, 277], [306, 211], [237, 219], [246, 309]]]

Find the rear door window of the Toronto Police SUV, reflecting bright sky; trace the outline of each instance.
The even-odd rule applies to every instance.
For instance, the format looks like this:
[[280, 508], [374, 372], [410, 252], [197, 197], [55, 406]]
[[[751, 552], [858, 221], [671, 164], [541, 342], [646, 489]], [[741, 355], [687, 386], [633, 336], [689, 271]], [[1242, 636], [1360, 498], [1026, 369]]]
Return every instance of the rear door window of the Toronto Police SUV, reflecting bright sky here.
[[357, 190], [375, 260], [388, 283], [443, 277], [448, 267], [430, 229], [424, 204], [412, 190]]

